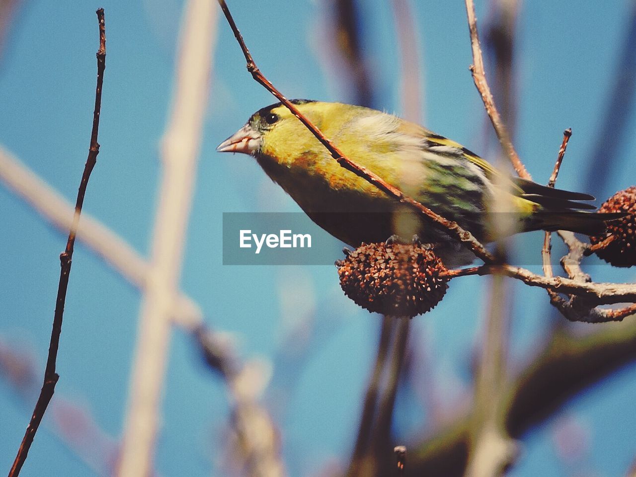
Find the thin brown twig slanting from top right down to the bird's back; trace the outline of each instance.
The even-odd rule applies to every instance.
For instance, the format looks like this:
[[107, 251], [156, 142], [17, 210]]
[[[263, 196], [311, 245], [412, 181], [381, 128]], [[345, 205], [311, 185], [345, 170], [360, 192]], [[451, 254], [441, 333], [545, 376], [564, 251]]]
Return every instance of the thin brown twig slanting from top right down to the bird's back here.
[[471, 47], [473, 49], [473, 65], [470, 67], [471, 73], [473, 74], [473, 81], [481, 95], [481, 100], [483, 101], [488, 117], [492, 122], [492, 126], [495, 128], [495, 132], [499, 138], [499, 143], [506, 152], [506, 155], [508, 155], [513, 167], [515, 167], [516, 173], [524, 179], [532, 179], [519, 158], [519, 155], [515, 151], [515, 146], [513, 146], [510, 134], [506, 129], [506, 125], [504, 125], [501, 120], [499, 111], [497, 111], [497, 107], [495, 106], [495, 100], [492, 97], [490, 87], [486, 81], [486, 73], [483, 67], [483, 56], [481, 55], [481, 46], [477, 32], [477, 18], [475, 16], [473, 0], [466, 0], [466, 14], [468, 16], [468, 28], [471, 34]]

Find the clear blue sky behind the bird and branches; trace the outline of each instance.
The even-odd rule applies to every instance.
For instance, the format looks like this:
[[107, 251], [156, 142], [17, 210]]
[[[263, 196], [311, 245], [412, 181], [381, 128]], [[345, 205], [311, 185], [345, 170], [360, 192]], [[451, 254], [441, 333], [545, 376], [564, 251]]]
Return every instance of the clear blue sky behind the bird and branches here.
[[[321, 60], [326, 3], [317, 0], [234, 0], [230, 3], [247, 45], [268, 78], [287, 95], [347, 100], [346, 89]], [[485, 150], [483, 107], [468, 71], [471, 52], [462, 1], [411, 2], [422, 53], [422, 117], [427, 127], [476, 152]], [[477, 2], [478, 20], [487, 3]], [[400, 113], [399, 56], [389, 3], [363, 2], [365, 52], [373, 66], [378, 100]], [[577, 189], [598, 141], [603, 106], [630, 20], [628, 0], [582, 0], [576, 8], [551, 0], [522, 3], [516, 45], [518, 122], [516, 146], [537, 181], [550, 174], [562, 131], [574, 131], [559, 177]], [[124, 237], [144, 256], [155, 215], [159, 141], [169, 113], [181, 2], [104, 1], [101, 4], [24, 3], [12, 22], [0, 58], [0, 144], [74, 200], [86, 159], [95, 89], [97, 22], [106, 10], [107, 68], [102, 145], [86, 194], [85, 211]], [[222, 19], [221, 19], [222, 20]], [[276, 389], [265, 395], [279, 419], [291, 475], [309, 475], [331, 460], [347, 462], [356, 433], [361, 396], [370, 371], [380, 318], [353, 305], [340, 291], [333, 266], [223, 266], [223, 212], [298, 211], [248, 156], [214, 150], [249, 116], [275, 102], [245, 71], [239, 47], [219, 22], [214, 74], [184, 253], [181, 286], [204, 310], [212, 328], [233, 333], [246, 359], [282, 362], [285, 336], [313, 317], [317, 338], [276, 406]], [[636, 115], [625, 140], [607, 158], [604, 198], [636, 182], [633, 155]], [[612, 138], [606, 138], [612, 141]], [[491, 148], [492, 151], [492, 148]], [[614, 167], [610, 167], [613, 164]], [[0, 184], [0, 342], [31, 356], [43, 370], [50, 338], [59, 253], [66, 239]], [[531, 239], [532, 240], [532, 239]], [[538, 236], [534, 246], [539, 253]], [[339, 257], [335, 257], [339, 258]], [[591, 261], [590, 263], [595, 263]], [[592, 268], [598, 280], [633, 280], [633, 272]], [[455, 401], [470, 386], [470, 359], [487, 310], [487, 280], [455, 280], [445, 300], [413, 321], [411, 339], [425, 350], [428, 372], [440, 396]], [[522, 363], [550, 326], [546, 296], [514, 286], [511, 359]], [[56, 393], [85, 403], [97, 424], [122, 431], [139, 293], [83, 245], [73, 258]], [[586, 459], [600, 476], [625, 473], [636, 455], [635, 369], [626, 368], [577, 397], [545, 426], [529, 432], [511, 473], [568, 475], [555, 454], [553, 434], [563, 418], [590, 432]], [[290, 371], [291, 372], [291, 371]], [[275, 379], [285, 382], [284, 376]], [[38, 378], [39, 379], [39, 378]], [[274, 380], [272, 387], [279, 381]], [[283, 392], [283, 391], [281, 391]], [[405, 394], [400, 402], [417, 397]], [[0, 468], [8, 469], [32, 403], [0, 381]], [[396, 417], [400, 439], [426, 425], [419, 401]], [[156, 467], [165, 476], [222, 475], [219, 441], [228, 417], [223, 383], [211, 375], [190, 338], [174, 333], [163, 401]], [[194, 445], [193, 445], [194, 443]], [[51, 431], [39, 432], [24, 475], [85, 476], [91, 471]]]

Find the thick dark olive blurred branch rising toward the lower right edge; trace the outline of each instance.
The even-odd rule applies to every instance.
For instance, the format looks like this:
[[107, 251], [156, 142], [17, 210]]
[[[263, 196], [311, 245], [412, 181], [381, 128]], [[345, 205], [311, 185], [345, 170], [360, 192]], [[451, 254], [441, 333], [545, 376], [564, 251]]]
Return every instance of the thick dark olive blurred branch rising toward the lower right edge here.
[[[506, 387], [505, 429], [512, 438], [520, 438], [583, 389], [635, 360], [636, 322], [608, 325], [584, 336], [555, 329], [534, 360]], [[463, 475], [472, 418], [459, 417], [419, 445], [410, 445], [411, 473]]]

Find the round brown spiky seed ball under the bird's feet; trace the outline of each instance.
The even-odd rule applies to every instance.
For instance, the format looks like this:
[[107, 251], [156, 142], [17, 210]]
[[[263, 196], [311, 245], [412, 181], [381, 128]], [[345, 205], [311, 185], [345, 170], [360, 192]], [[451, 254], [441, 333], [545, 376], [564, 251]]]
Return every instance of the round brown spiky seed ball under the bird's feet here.
[[446, 268], [429, 248], [419, 244], [362, 244], [336, 262], [340, 286], [370, 312], [414, 317], [443, 298]]

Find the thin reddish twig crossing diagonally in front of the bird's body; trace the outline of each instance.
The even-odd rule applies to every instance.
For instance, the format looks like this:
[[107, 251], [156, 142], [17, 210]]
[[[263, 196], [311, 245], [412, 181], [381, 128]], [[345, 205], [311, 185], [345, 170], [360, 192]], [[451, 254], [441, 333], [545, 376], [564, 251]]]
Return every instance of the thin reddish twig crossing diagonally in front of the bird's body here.
[[289, 99], [284, 97], [284, 95], [282, 95], [282, 93], [280, 93], [279, 90], [277, 90], [275, 86], [273, 86], [272, 83], [270, 83], [270, 81], [265, 78], [265, 76], [263, 76], [263, 73], [261, 73], [261, 71], [256, 66], [256, 63], [254, 63], [254, 59], [252, 59], [252, 55], [247, 49], [247, 46], [245, 46], [245, 41], [240, 34], [240, 31], [237, 28], [234, 19], [232, 18], [232, 14], [228, 9], [225, 0], [218, 1], [221, 5], [221, 8], [223, 9], [223, 13], [225, 13], [225, 18], [228, 20], [228, 24], [230, 24], [230, 27], [232, 28], [235, 38], [239, 42], [240, 48], [245, 57], [245, 61], [247, 62], [247, 71], [249, 71], [249, 73], [252, 75], [252, 78], [254, 78], [255, 81], [257, 81], [260, 85], [265, 87], [266, 90], [277, 97], [277, 99], [279, 99], [280, 102], [282, 102], [282, 104], [284, 104], [287, 109], [289, 109], [289, 111], [291, 111], [291, 113], [294, 114], [294, 116], [296, 116], [296, 118], [298, 118], [298, 120], [300, 120], [301, 123], [305, 125], [305, 127], [307, 127], [308, 130], [310, 130], [315, 138], [321, 142], [321, 144], [329, 151], [331, 156], [338, 162], [338, 164], [340, 164], [340, 166], [344, 167], [350, 172], [353, 172], [357, 176], [362, 177], [390, 197], [396, 199], [398, 202], [407, 204], [410, 207], [413, 207], [413, 209], [421, 212], [422, 214], [424, 214], [424, 216], [431, 219], [433, 223], [436, 223], [438, 228], [445, 230], [448, 235], [450, 235], [454, 239], [459, 240], [459, 242], [469, 247], [471, 251], [473, 251], [474, 254], [478, 256], [478, 258], [482, 259], [486, 263], [495, 262], [494, 256], [492, 256], [492, 254], [490, 254], [490, 252], [488, 252], [487, 249], [477, 239], [475, 239], [470, 232], [462, 229], [457, 223], [445, 219], [439, 214], [431, 211], [431, 209], [425, 207], [425, 205], [420, 204], [420, 202], [417, 202], [417, 200], [404, 195], [401, 190], [399, 190], [392, 184], [387, 183], [387, 181], [382, 179], [382, 177], [374, 174], [370, 170], [366, 169], [366, 167], [357, 165], [357, 163], [347, 158], [347, 156], [345, 156], [342, 151], [340, 151], [340, 149], [338, 149], [338, 147], [333, 144], [333, 142], [329, 141], [329, 139], [327, 139], [327, 137], [325, 137], [325, 135], [322, 134], [322, 132], [317, 127], [315, 127], [314, 123], [312, 123], [306, 116], [298, 111], [298, 108]]

